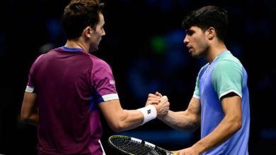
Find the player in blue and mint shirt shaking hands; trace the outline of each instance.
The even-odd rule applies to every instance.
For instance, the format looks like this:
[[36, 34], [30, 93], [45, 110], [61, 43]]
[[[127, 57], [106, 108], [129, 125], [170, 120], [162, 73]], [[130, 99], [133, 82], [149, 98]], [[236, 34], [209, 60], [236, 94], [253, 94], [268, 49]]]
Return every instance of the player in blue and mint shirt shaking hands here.
[[[168, 111], [159, 117], [177, 130], [200, 127], [201, 140], [176, 153], [183, 155], [248, 154], [250, 106], [247, 73], [241, 62], [224, 44], [227, 11], [205, 6], [183, 20], [184, 43], [193, 57], [209, 61], [197, 75], [195, 91], [188, 109]], [[152, 95], [152, 96], [151, 96]], [[151, 94], [149, 100], [157, 95]]]

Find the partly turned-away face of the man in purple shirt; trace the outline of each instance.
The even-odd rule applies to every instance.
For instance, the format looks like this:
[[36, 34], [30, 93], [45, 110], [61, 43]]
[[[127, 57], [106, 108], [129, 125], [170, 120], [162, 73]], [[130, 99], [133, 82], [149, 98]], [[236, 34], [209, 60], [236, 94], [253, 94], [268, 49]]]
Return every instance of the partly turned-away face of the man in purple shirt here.
[[103, 25], [105, 25], [105, 20], [103, 18], [103, 14], [100, 13], [100, 20], [98, 25], [96, 26], [96, 30], [91, 29], [89, 51], [98, 50], [98, 45], [100, 44], [100, 40], [102, 39], [102, 36], [105, 35], [105, 30], [103, 29]]

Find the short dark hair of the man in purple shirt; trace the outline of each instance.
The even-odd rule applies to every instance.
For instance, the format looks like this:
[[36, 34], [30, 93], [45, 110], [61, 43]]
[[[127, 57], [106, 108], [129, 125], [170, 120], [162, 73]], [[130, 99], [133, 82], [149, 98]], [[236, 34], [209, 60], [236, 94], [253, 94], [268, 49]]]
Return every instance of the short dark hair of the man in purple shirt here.
[[67, 39], [80, 37], [87, 26], [95, 29], [103, 6], [104, 4], [99, 0], [71, 0], [64, 8], [62, 16], [62, 27]]

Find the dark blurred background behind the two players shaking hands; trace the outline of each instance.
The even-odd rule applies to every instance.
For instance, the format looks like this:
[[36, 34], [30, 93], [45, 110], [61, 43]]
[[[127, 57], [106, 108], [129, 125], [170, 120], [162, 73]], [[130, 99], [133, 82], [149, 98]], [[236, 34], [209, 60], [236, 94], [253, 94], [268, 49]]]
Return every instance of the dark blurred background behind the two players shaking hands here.
[[[171, 110], [188, 106], [195, 78], [206, 61], [192, 58], [183, 39], [183, 17], [205, 5], [229, 11], [226, 46], [248, 71], [251, 100], [249, 154], [268, 154], [276, 146], [276, 1], [273, 0], [113, 0], [103, 1], [106, 36], [93, 54], [113, 68], [124, 109], [144, 106], [149, 93], [168, 96]], [[0, 25], [0, 154], [36, 154], [36, 128], [19, 119], [30, 66], [40, 54], [63, 46], [59, 25], [69, 0], [1, 2]], [[178, 132], [160, 120], [115, 133], [103, 120], [103, 147], [110, 135], [130, 135], [170, 150], [189, 147], [200, 131]], [[273, 148], [274, 147], [274, 148]]]

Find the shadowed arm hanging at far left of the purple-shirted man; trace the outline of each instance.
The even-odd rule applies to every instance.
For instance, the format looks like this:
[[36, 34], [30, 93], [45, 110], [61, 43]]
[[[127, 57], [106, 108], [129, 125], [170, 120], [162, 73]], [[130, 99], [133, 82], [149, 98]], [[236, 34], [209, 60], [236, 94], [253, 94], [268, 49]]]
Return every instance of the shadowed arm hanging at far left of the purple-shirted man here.
[[37, 95], [25, 92], [21, 107], [21, 119], [23, 123], [38, 125], [38, 105], [36, 104]]

